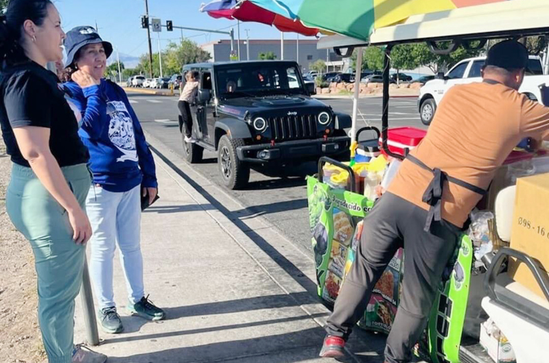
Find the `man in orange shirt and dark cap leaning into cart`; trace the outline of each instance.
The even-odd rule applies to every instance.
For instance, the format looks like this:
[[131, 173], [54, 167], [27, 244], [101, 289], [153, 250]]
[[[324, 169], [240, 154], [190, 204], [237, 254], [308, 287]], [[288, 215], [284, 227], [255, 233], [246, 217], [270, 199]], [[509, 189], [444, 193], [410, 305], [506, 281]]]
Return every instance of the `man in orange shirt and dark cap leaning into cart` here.
[[540, 140], [549, 130], [549, 108], [517, 92], [527, 64], [524, 45], [500, 42], [488, 53], [483, 82], [447, 92], [427, 136], [364, 218], [355, 262], [327, 321], [321, 357], [344, 354], [375, 284], [404, 247], [402, 297], [385, 362], [410, 362], [469, 213], [515, 146], [524, 138]]

